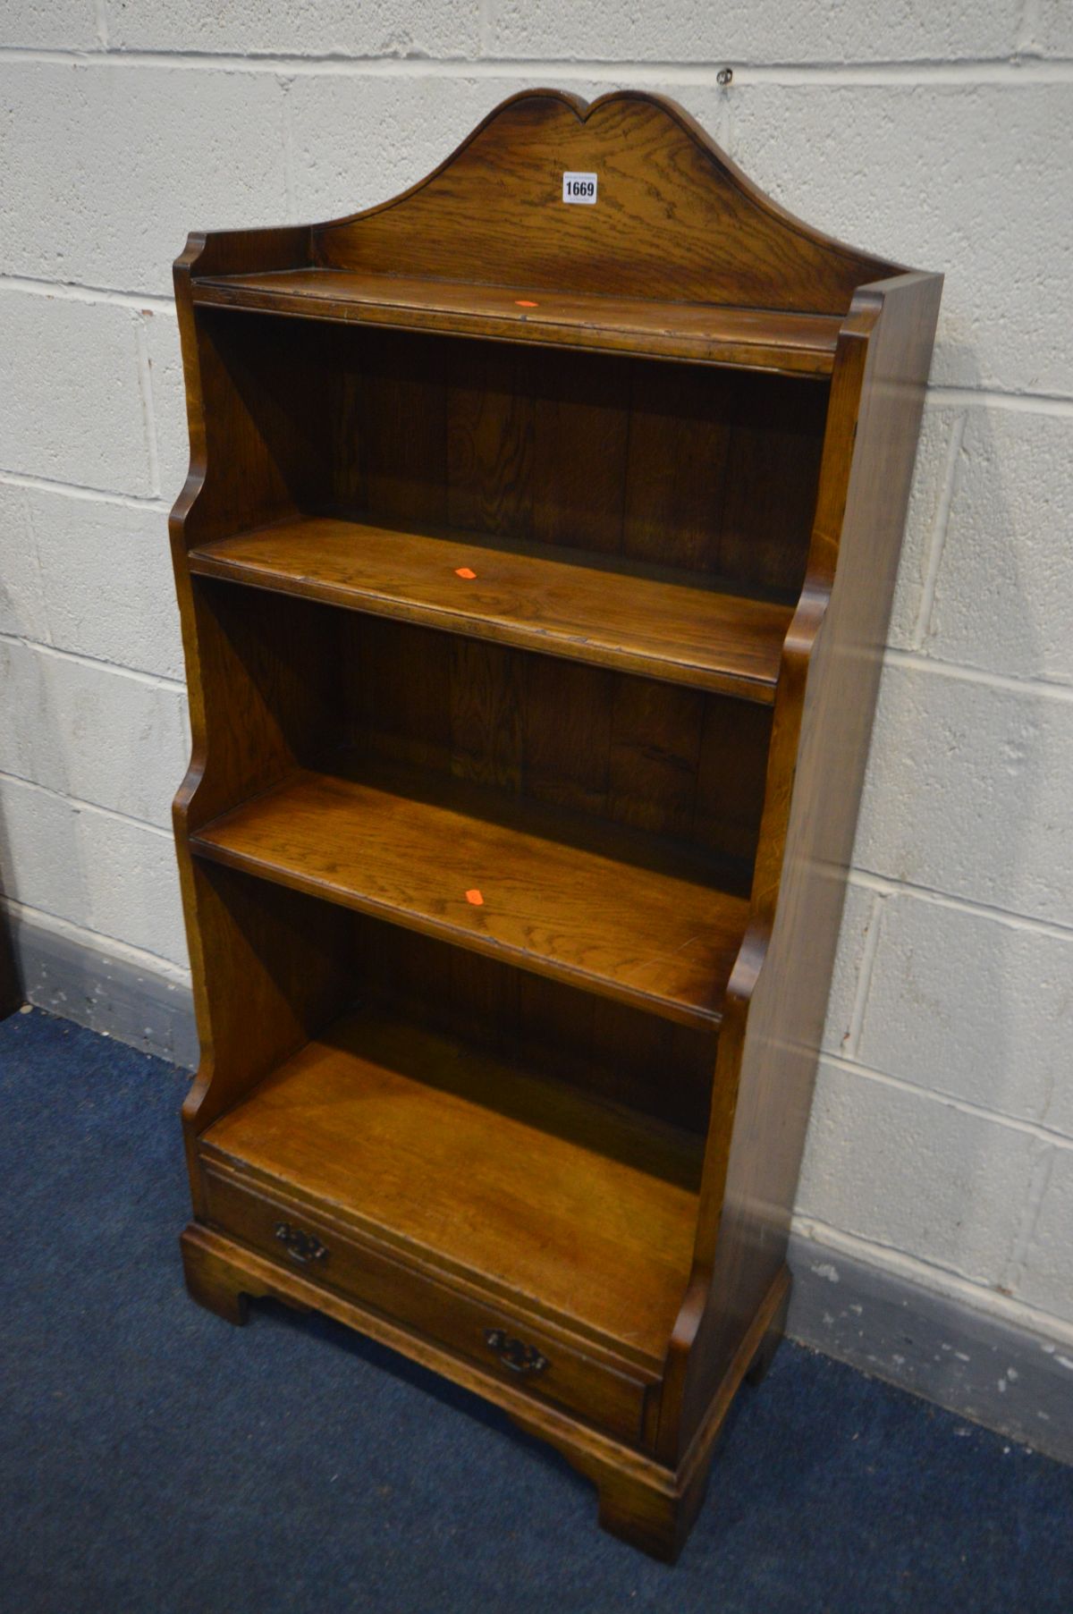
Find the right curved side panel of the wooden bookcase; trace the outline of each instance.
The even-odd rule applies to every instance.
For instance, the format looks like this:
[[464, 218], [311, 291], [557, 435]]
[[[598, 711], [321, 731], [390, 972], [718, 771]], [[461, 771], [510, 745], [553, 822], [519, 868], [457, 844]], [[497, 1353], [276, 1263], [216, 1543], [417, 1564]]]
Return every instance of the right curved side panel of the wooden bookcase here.
[[752, 918], [720, 1035], [694, 1272], [668, 1354], [658, 1446], [670, 1464], [786, 1259], [941, 284], [905, 274], [865, 287], [842, 326]]

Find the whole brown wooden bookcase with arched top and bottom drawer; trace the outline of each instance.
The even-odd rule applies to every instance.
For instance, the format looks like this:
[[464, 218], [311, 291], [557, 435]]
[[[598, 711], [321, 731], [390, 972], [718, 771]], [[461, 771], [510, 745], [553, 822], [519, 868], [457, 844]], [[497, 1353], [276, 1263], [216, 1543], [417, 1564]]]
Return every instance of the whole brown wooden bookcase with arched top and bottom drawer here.
[[190, 1291], [470, 1386], [665, 1558], [784, 1317], [939, 291], [552, 90], [176, 265]]

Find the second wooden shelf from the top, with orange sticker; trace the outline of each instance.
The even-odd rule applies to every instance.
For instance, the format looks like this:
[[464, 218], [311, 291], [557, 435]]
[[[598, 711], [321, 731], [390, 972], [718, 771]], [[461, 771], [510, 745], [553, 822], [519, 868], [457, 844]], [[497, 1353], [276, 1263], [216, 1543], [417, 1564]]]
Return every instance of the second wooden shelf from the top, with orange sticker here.
[[190, 570], [766, 705], [792, 615], [668, 568], [329, 516], [203, 544]]

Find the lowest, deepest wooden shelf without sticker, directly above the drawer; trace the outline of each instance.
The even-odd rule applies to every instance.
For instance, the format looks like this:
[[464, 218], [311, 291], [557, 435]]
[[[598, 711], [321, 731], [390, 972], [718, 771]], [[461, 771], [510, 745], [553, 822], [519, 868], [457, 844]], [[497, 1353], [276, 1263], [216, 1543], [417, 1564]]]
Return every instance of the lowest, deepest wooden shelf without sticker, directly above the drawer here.
[[360, 1010], [208, 1128], [207, 1162], [658, 1369], [689, 1277], [700, 1139]]

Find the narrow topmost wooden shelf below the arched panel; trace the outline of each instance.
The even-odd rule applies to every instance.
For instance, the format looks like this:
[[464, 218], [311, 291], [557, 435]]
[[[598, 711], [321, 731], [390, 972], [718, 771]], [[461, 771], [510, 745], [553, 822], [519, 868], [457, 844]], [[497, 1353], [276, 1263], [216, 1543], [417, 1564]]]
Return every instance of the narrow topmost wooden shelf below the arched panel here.
[[195, 278], [200, 307], [247, 308], [455, 336], [584, 347], [694, 363], [745, 365], [829, 376], [841, 315], [657, 302], [526, 286], [368, 274], [357, 270], [273, 270]]

